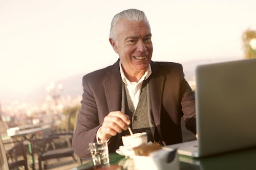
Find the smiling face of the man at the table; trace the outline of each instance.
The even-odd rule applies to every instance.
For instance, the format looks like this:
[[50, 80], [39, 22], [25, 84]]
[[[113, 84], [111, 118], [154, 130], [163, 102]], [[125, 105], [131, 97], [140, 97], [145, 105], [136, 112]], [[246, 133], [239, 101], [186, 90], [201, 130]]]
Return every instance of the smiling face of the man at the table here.
[[153, 45], [151, 29], [146, 21], [121, 19], [116, 25], [117, 41], [110, 39], [122, 67], [131, 76], [143, 73], [151, 61]]

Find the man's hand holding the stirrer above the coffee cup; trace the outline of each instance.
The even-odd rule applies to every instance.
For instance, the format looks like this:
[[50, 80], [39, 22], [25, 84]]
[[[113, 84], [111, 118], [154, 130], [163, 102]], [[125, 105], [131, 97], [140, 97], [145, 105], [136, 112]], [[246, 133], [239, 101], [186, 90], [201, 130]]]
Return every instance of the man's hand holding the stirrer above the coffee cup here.
[[121, 111], [110, 112], [104, 118], [103, 124], [98, 131], [98, 138], [100, 140], [109, 140], [111, 136], [121, 133], [122, 130], [127, 130], [130, 124], [131, 121], [126, 114]]

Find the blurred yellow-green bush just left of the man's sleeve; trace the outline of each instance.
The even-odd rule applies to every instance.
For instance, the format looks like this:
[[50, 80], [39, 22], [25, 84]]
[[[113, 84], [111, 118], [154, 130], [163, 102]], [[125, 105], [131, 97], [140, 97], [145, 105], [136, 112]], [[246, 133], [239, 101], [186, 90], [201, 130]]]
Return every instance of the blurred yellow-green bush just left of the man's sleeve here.
[[65, 129], [66, 131], [74, 130], [76, 113], [79, 109], [80, 105], [63, 109], [63, 114], [66, 115], [66, 119], [61, 123], [61, 129]]

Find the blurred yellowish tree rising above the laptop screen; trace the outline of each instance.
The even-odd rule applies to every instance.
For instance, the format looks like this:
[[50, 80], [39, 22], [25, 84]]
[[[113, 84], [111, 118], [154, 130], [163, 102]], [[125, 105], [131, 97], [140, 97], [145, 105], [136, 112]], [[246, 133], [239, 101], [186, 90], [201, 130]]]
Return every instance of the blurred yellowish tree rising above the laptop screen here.
[[245, 58], [253, 58], [255, 57], [255, 50], [252, 49], [250, 45], [251, 39], [256, 38], [256, 31], [247, 29], [242, 34], [242, 40], [243, 40], [243, 47], [244, 47], [244, 57]]

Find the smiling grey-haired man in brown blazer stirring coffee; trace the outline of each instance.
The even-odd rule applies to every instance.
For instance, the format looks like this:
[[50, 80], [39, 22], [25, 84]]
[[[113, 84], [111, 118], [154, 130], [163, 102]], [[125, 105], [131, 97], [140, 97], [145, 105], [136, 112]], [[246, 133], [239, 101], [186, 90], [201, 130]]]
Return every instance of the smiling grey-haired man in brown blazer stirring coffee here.
[[109, 152], [122, 145], [121, 136], [147, 132], [163, 145], [182, 142], [181, 117], [196, 133], [195, 96], [182, 65], [153, 62], [152, 34], [144, 12], [122, 11], [111, 22], [109, 41], [116, 63], [83, 77], [83, 95], [72, 146], [90, 156], [88, 143], [108, 140]]

